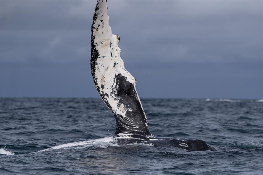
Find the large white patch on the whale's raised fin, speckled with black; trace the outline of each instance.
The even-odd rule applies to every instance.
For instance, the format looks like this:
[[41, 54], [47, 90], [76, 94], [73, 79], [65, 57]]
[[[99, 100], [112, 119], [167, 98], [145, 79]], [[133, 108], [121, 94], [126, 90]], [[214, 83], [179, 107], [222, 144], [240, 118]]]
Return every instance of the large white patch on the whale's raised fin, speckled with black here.
[[[107, 93], [109, 95], [109, 97], [105, 96], [105, 98], [111, 105], [112, 110], [116, 114], [125, 116], [127, 109], [119, 103], [118, 97], [115, 96], [114, 87], [116, 86], [116, 82], [114, 81], [114, 77], [117, 74], [123, 75], [127, 78], [127, 81], [134, 84], [134, 88], [136, 82], [134, 77], [125, 69], [124, 62], [120, 57], [119, 39], [117, 35], [112, 34], [106, 1], [98, 3], [98, 8], [98, 17], [93, 25], [95, 27], [93, 30], [93, 36], [95, 36], [94, 44], [99, 53], [96, 61], [97, 64], [95, 65], [94, 78], [97, 78], [99, 93]], [[101, 88], [101, 85], [104, 88]]]

